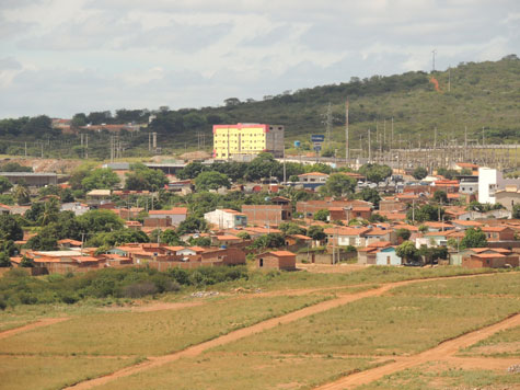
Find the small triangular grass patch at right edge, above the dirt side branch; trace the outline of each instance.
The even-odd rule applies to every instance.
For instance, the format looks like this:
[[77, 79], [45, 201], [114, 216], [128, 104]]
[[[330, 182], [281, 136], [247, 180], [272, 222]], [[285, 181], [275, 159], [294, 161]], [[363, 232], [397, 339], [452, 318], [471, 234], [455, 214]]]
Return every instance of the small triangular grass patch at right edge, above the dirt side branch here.
[[462, 356], [520, 357], [520, 326], [495, 333], [463, 351]]

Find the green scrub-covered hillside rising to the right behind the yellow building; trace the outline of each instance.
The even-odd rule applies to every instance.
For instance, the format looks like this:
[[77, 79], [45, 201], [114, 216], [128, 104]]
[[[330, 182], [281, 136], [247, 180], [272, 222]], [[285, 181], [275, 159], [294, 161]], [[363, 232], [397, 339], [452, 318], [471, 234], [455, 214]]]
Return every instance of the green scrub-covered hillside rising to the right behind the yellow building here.
[[[438, 82], [438, 90], [432, 78]], [[367, 79], [353, 77], [349, 82], [285, 91], [276, 96], [264, 96], [263, 101], [247, 99], [242, 102], [231, 96], [220, 107], [162, 111], [157, 114], [149, 130], [159, 133], [160, 145], [166, 150], [197, 145], [195, 133], [200, 131], [206, 135], [206, 149], [209, 150], [212, 145], [211, 127], [215, 124], [280, 124], [286, 126], [287, 146], [293, 140], [300, 140], [303, 149], [307, 149], [311, 134], [325, 134], [324, 122], [331, 104], [333, 142], [330, 147], [344, 151], [347, 97], [353, 148], [359, 148], [360, 136], [363, 138], [362, 146], [366, 147], [369, 128], [372, 130], [372, 145], [375, 146], [375, 128], [379, 128], [382, 138], [384, 121], [385, 147], [390, 147], [392, 118], [394, 147], [397, 147], [400, 136], [403, 146], [408, 146], [408, 142], [417, 146], [419, 136], [421, 145], [431, 145], [436, 127], [438, 145], [453, 138], [462, 141], [465, 126], [470, 139], [482, 141], [484, 135], [486, 144], [512, 144], [520, 139], [520, 59], [516, 55], [494, 62], [462, 62], [449, 71], [411, 71]], [[142, 123], [148, 114], [148, 111], [118, 110], [113, 117], [106, 116], [105, 112], [77, 114], [74, 118], [76, 123], [91, 119], [92, 123], [100, 123], [103, 118], [107, 124], [129, 121]], [[45, 128], [38, 127], [43, 125]], [[108, 135], [105, 136], [107, 140]], [[48, 128], [48, 123], [42, 119], [24, 118], [20, 123], [20, 129], [16, 129], [16, 119], [0, 121], [0, 149], [5, 142], [3, 152], [13, 139], [20, 141], [28, 138], [45, 139], [45, 152], [50, 153], [54, 148], [49, 139], [58, 137], [56, 131]], [[107, 154], [108, 144], [102, 137], [103, 135], [96, 135], [95, 138], [93, 136], [91, 156], [99, 154], [95, 148], [106, 149], [103, 154]], [[66, 138], [70, 138], [70, 142], [63, 145], [63, 137], [60, 137], [61, 153], [76, 152], [81, 156], [82, 150], [71, 148], [78, 137]], [[124, 135], [122, 138], [127, 148], [142, 150], [148, 147], [146, 134], [137, 137]], [[94, 144], [95, 141], [99, 144]]]

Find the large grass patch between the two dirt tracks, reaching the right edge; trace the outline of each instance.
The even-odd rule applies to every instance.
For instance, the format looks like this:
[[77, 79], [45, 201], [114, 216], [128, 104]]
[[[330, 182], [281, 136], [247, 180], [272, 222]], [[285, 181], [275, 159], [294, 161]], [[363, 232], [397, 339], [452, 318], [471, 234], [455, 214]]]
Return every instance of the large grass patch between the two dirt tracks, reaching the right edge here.
[[520, 300], [500, 298], [366, 298], [219, 349], [293, 354], [414, 354], [497, 322], [519, 310]]

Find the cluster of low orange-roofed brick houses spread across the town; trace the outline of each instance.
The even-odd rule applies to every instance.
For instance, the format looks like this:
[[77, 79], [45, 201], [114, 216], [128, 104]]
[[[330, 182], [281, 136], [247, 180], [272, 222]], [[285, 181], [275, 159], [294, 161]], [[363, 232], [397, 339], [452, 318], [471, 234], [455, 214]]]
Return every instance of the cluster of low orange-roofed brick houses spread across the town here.
[[[178, 181], [175, 173], [183, 164], [157, 164], [152, 167], [167, 171], [170, 183], [165, 190], [186, 194], [194, 191], [193, 181]], [[129, 169], [127, 163], [107, 165], [124, 176]], [[472, 170], [472, 175], [460, 175], [453, 180], [442, 176], [427, 176], [413, 180], [412, 176], [393, 179], [395, 185], [375, 184], [370, 186], [365, 177], [357, 173], [345, 173], [358, 181], [358, 188], [370, 187], [380, 191], [379, 205], [360, 199], [323, 198], [293, 203], [279, 195], [285, 185], [299, 186], [307, 192], [315, 192], [325, 185], [328, 175], [311, 172], [299, 175], [297, 183], [262, 184], [249, 183], [235, 185], [228, 191], [268, 191], [267, 204], [243, 205], [240, 210], [217, 208], [206, 213], [204, 218], [210, 227], [207, 233], [184, 234], [181, 239], [187, 242], [190, 238], [207, 237], [209, 246], [171, 246], [163, 243], [129, 243], [99, 253], [96, 248], [83, 248], [83, 243], [74, 240], [61, 240], [60, 251], [24, 251], [34, 260], [34, 273], [69, 273], [97, 269], [103, 267], [150, 266], [157, 269], [169, 267], [194, 268], [198, 266], [221, 266], [245, 264], [246, 255], [253, 254], [258, 268], [296, 269], [297, 262], [328, 263], [355, 259], [366, 265], [403, 265], [405, 261], [396, 253], [403, 242], [398, 231], [409, 231], [408, 240], [417, 249], [427, 246], [450, 246], [447, 264], [466, 267], [504, 267], [519, 266], [520, 220], [511, 219], [515, 205], [520, 204], [520, 181], [506, 180], [501, 172], [474, 164], [460, 163], [460, 170]], [[1, 175], [2, 173], [0, 173]], [[383, 183], [384, 184], [384, 183]], [[398, 184], [398, 185], [397, 185]], [[434, 194], [442, 190], [447, 194], [448, 204], [443, 204], [444, 214], [437, 221], [417, 222], [407, 218], [411, 207], [420, 207], [434, 200]], [[187, 207], [170, 209], [143, 209], [142, 207], [117, 207], [111, 197], [122, 199], [130, 195], [150, 195], [148, 192], [93, 190], [86, 194], [84, 203], [61, 204], [61, 210], [73, 211], [80, 216], [92, 208], [106, 209], [125, 220], [128, 229], [141, 230], [148, 234], [160, 229], [175, 229], [188, 217]], [[500, 203], [505, 208], [469, 210], [465, 205], [473, 200], [483, 204]], [[153, 207], [153, 206], [152, 206]], [[0, 205], [2, 214], [23, 214], [27, 207]], [[327, 220], [316, 220], [317, 213], [326, 210]], [[142, 222], [136, 220], [146, 211]], [[378, 215], [380, 218], [373, 218]], [[383, 217], [383, 218], [381, 218]], [[440, 217], [440, 215], [439, 215]], [[369, 222], [372, 220], [373, 222]], [[384, 220], [384, 221], [380, 221]], [[323, 228], [323, 237], [313, 239], [304, 234], [282, 234], [279, 229], [284, 222], [296, 222], [308, 230], [313, 226]], [[458, 248], [464, 238], [465, 230], [481, 229], [487, 237], [487, 248]], [[254, 240], [278, 233], [284, 238], [284, 245], [278, 250], [264, 251], [252, 249]], [[30, 234], [21, 240], [27, 241]], [[353, 250], [354, 248], [354, 250]], [[250, 256], [251, 257], [251, 256]], [[16, 266], [21, 256], [11, 259]]]

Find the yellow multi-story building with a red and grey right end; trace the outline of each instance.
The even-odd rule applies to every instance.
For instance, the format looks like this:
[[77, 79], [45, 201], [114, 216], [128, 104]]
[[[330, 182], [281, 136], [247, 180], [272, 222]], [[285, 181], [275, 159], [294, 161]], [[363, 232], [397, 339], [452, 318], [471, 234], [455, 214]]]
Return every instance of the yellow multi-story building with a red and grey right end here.
[[264, 124], [213, 125], [213, 158], [240, 159], [262, 152], [284, 157], [284, 126]]

